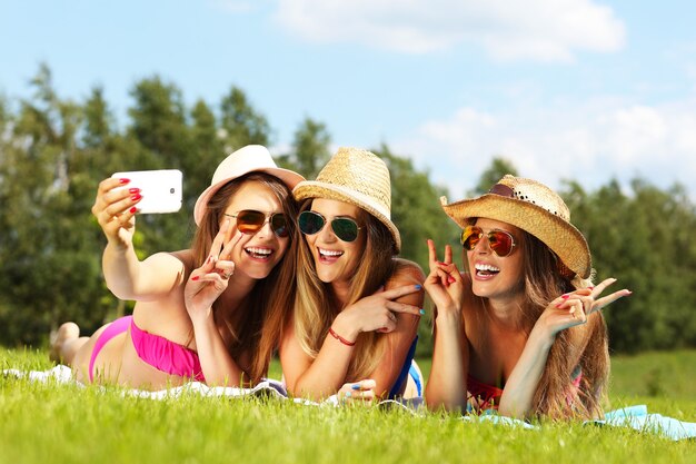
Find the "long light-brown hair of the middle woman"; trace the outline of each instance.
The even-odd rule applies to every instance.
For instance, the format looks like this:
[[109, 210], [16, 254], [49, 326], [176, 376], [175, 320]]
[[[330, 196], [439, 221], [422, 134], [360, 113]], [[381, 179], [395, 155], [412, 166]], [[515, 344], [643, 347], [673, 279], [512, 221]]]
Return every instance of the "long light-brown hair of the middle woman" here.
[[[312, 199], [307, 199], [300, 210], [307, 210]], [[394, 238], [389, 229], [369, 213], [360, 209], [358, 223], [367, 233], [365, 250], [350, 278], [348, 303], [339, 307], [330, 284], [317, 276], [315, 259], [307, 240], [298, 240], [297, 294], [295, 296], [295, 334], [302, 351], [316, 358], [329, 328], [338, 314], [347, 307], [377, 292], [394, 275], [398, 261], [394, 257]], [[385, 352], [381, 334], [361, 333], [348, 366], [346, 379], [365, 378], [371, 373]]]

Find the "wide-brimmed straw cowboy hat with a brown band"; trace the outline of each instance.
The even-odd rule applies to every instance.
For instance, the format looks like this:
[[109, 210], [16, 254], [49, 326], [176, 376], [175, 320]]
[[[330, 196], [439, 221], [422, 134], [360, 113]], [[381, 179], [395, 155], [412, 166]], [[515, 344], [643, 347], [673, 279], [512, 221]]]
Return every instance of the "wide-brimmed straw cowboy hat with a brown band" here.
[[511, 224], [546, 244], [581, 278], [588, 278], [591, 273], [587, 240], [570, 224], [570, 211], [564, 200], [544, 184], [506, 175], [478, 198], [448, 205], [443, 197], [440, 201], [447, 216], [463, 228], [479, 217]]

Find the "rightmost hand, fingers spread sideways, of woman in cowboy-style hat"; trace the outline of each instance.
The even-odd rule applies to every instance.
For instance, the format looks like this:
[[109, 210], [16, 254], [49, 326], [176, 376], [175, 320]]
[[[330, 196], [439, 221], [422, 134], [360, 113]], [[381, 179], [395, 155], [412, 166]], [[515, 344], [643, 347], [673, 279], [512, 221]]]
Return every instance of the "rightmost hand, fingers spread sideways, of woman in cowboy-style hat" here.
[[622, 289], [599, 298], [601, 293], [615, 282], [615, 278], [608, 278], [596, 287], [580, 288], [559, 296], [544, 309], [537, 324], [541, 323], [550, 337], [555, 337], [566, 328], [585, 324], [590, 314], [632, 294], [630, 290]]

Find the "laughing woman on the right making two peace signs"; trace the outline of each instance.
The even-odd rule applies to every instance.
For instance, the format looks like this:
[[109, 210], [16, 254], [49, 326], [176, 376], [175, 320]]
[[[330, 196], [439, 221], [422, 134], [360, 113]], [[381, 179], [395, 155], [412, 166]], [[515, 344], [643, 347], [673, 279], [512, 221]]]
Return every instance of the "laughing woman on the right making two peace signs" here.
[[425, 287], [436, 305], [431, 408], [498, 408], [506, 416], [595, 417], [609, 373], [604, 306], [627, 296], [593, 287], [585, 237], [563, 199], [505, 176], [478, 198], [447, 204], [465, 269], [428, 240]]

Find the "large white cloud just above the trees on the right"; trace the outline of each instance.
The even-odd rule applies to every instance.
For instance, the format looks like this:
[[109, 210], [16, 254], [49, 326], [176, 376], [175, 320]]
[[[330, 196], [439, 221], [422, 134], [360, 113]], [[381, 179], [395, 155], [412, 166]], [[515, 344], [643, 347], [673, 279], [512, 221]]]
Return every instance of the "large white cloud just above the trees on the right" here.
[[626, 185], [643, 177], [660, 188], [678, 181], [696, 198], [696, 100], [654, 107], [565, 101], [495, 115], [463, 108], [390, 145], [429, 168], [453, 197], [503, 156], [521, 176], [554, 188], [569, 179], [591, 190], [612, 178]]

